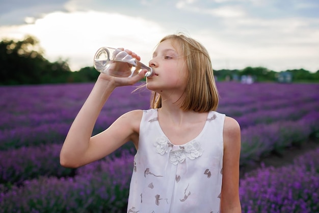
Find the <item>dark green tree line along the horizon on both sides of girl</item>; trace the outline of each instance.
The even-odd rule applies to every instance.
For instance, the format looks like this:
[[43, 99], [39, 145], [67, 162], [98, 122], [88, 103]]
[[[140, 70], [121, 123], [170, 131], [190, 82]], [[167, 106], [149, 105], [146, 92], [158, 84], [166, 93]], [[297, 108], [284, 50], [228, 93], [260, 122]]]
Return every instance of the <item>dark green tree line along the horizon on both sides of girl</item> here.
[[[92, 67], [72, 72], [67, 60], [50, 62], [43, 57], [43, 49], [33, 36], [21, 41], [3, 39], [0, 42], [0, 85], [49, 84], [93, 82], [99, 73]], [[281, 73], [290, 73], [292, 82], [319, 82], [319, 70], [310, 73], [305, 69], [275, 72], [265, 67], [215, 70], [218, 81], [237, 81], [252, 76], [254, 81], [278, 81]]]

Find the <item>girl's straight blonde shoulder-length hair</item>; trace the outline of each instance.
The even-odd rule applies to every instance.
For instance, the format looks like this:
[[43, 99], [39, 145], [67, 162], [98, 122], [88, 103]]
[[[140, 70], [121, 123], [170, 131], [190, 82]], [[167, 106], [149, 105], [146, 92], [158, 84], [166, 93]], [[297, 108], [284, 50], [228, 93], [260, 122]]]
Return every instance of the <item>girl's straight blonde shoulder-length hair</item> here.
[[[182, 100], [180, 108], [195, 112], [216, 110], [219, 94], [207, 50], [200, 42], [181, 33], [167, 35], [159, 43], [165, 40], [171, 40], [173, 46], [176, 42], [179, 44], [188, 69], [188, 81], [184, 91], [185, 98]], [[161, 95], [152, 91], [150, 104], [153, 109], [161, 108]]]

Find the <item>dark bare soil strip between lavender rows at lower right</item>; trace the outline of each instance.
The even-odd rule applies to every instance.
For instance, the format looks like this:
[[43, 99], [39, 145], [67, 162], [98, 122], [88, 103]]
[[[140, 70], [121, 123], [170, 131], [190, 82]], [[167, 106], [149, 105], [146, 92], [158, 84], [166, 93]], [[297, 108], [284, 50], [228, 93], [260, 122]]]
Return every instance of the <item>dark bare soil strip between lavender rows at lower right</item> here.
[[261, 168], [261, 164], [264, 164], [265, 167], [275, 168], [291, 164], [295, 158], [317, 148], [319, 148], [319, 138], [312, 138], [300, 147], [293, 146], [285, 149], [281, 154], [271, 153], [270, 155], [261, 158], [258, 162], [242, 166], [240, 168], [240, 177], [243, 178], [246, 173], [250, 173]]

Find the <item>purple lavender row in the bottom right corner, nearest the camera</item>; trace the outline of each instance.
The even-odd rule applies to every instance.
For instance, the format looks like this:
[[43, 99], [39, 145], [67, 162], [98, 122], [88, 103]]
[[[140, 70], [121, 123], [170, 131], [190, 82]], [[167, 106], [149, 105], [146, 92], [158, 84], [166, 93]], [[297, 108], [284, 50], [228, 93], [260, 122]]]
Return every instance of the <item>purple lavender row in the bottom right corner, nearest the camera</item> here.
[[240, 181], [246, 213], [319, 212], [319, 149], [305, 153], [290, 165], [261, 168]]

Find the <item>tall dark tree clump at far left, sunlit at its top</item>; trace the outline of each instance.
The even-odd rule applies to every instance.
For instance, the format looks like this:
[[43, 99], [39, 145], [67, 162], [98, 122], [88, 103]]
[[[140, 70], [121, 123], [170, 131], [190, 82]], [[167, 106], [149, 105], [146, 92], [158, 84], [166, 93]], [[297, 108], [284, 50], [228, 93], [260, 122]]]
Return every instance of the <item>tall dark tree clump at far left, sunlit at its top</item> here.
[[49, 62], [43, 57], [39, 41], [26, 36], [22, 41], [0, 42], [0, 84], [54, 83], [60, 74], [70, 71], [67, 62]]

